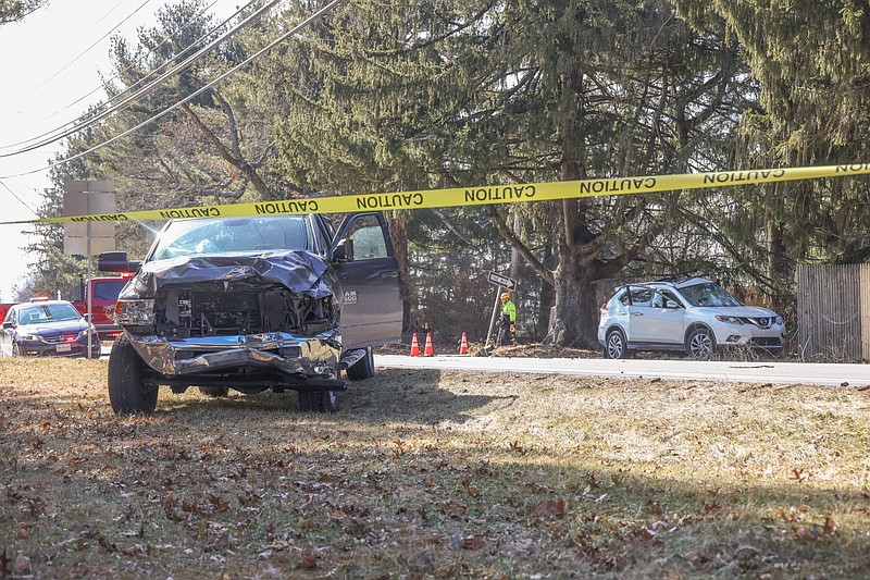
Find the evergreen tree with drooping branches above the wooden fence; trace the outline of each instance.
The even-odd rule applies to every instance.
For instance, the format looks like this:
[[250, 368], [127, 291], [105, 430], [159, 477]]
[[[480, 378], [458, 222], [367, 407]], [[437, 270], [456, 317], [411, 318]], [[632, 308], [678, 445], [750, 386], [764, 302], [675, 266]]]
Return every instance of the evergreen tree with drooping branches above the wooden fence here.
[[[867, 159], [870, 8], [866, 2], [674, 0], [692, 22], [714, 13], [745, 47], [762, 88], [742, 125], [747, 166], [801, 166]], [[755, 237], [771, 281], [791, 282], [797, 262], [870, 257], [870, 180], [816, 180], [739, 192], [744, 240]], [[739, 224], [739, 226], [737, 225]], [[781, 287], [781, 295], [788, 294]]]

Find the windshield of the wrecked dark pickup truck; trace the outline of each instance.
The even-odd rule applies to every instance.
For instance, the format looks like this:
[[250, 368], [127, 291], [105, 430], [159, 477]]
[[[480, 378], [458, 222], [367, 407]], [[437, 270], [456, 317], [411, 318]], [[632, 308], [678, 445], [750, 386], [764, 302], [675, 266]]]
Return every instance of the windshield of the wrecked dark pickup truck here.
[[313, 250], [310, 222], [303, 215], [221, 218], [170, 222], [150, 260], [232, 251]]

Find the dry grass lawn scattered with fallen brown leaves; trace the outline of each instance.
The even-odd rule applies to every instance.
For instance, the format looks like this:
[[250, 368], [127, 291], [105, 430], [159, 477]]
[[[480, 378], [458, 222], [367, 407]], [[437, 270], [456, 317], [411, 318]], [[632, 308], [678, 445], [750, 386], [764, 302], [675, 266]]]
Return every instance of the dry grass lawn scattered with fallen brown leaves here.
[[380, 371], [337, 415], [0, 359], [0, 578], [866, 578], [870, 390]]

